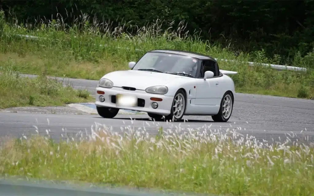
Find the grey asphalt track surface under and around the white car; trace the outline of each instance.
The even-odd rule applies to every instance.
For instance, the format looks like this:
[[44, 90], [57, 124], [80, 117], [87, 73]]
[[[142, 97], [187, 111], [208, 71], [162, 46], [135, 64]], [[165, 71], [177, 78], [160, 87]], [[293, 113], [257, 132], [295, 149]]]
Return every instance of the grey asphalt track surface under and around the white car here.
[[[98, 81], [67, 79], [64, 82], [70, 82], [76, 89], [87, 89], [95, 95]], [[132, 125], [136, 129], [145, 126], [153, 135], [157, 133], [159, 126], [164, 129], [171, 126], [166, 122], [154, 123], [146, 114], [132, 115], [132, 118], [136, 119], [133, 121], [130, 117], [125, 114], [119, 114], [114, 119], [103, 119], [98, 115], [0, 113], [0, 135], [20, 136], [22, 133], [35, 133], [34, 125], [41, 133], [50, 129], [50, 135], [54, 137], [60, 137], [62, 128], [66, 128], [68, 134], [76, 134], [79, 130], [91, 130], [95, 123], [105, 124], [116, 131], [120, 131], [121, 126]], [[194, 129], [211, 125], [212, 130], [234, 128], [240, 134], [249, 134], [259, 140], [268, 141], [272, 138], [278, 140], [279, 137], [284, 140], [285, 134], [291, 132], [298, 135], [299, 140], [307, 135], [311, 140], [314, 138], [314, 100], [236, 93], [233, 113], [227, 123], [215, 123], [210, 116], [184, 118], [187, 122], [177, 122], [173, 125], [180, 124], [182, 128]]]

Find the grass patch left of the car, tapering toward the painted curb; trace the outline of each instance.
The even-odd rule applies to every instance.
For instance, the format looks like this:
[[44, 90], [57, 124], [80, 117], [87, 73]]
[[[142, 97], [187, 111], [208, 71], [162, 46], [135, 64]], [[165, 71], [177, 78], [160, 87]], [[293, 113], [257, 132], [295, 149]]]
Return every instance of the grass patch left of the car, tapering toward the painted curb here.
[[0, 109], [21, 106], [61, 106], [94, 100], [86, 90], [62, 86], [45, 76], [20, 77], [8, 67], [0, 67]]

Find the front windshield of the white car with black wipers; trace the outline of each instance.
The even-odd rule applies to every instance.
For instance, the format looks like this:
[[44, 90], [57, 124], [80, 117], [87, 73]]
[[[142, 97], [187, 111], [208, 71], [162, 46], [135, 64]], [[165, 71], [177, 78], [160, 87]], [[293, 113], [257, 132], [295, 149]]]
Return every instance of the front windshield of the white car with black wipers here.
[[195, 77], [198, 59], [190, 56], [163, 52], [146, 53], [133, 67], [133, 70], [163, 72], [187, 77]]

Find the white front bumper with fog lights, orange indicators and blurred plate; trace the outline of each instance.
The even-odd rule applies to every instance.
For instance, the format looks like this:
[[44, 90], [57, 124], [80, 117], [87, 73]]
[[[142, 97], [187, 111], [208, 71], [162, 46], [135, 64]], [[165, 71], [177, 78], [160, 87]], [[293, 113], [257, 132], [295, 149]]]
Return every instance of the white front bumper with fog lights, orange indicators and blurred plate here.
[[[103, 91], [105, 94], [98, 94], [97, 91]], [[117, 107], [116, 106], [116, 94], [125, 94], [125, 95], [133, 95], [138, 98], [138, 105], [136, 107]], [[105, 98], [104, 102], [99, 101], [99, 97], [103, 96]], [[162, 101], [152, 101], [150, 98], [161, 98]], [[173, 96], [165, 96], [159, 94], [151, 94], [146, 93], [143, 90], [125, 90], [119, 87], [112, 87], [112, 88], [103, 88], [97, 87], [96, 88], [96, 106], [105, 106], [110, 108], [119, 108], [119, 109], [128, 109], [140, 112], [148, 112], [154, 114], [161, 114], [161, 115], [169, 115], [170, 109], [173, 101]], [[152, 103], [158, 103], [158, 108], [152, 108]]]

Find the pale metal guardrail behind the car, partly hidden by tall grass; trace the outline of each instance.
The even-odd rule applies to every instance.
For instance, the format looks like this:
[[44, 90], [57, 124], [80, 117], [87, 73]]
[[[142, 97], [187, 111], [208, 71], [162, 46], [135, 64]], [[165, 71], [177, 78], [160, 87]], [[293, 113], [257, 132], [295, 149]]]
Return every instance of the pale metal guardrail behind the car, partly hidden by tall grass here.
[[[25, 37], [26, 39], [30, 39], [30, 40], [33, 40], [33, 39], [46, 39], [46, 38], [40, 38], [40, 37], [36, 37], [36, 36], [33, 36], [33, 35], [21, 35], [21, 34], [18, 34], [18, 36], [20, 37]], [[104, 47], [108, 47], [108, 45], [99, 45], [100, 47], [104, 46]], [[117, 48], [121, 48], [121, 47], [117, 47]], [[126, 48], [128, 49], [128, 48]], [[135, 49], [136, 51], [143, 51], [143, 50], [140, 50], [140, 49]], [[220, 60], [220, 61], [231, 61], [231, 62], [237, 62], [237, 61], [234, 61], [234, 60], [227, 60], [227, 59], [217, 59], [217, 58], [214, 58], [216, 61]], [[242, 63], [248, 63], [249, 66], [255, 66], [255, 62], [245, 62], [245, 61], [242, 61]], [[307, 69], [305, 67], [296, 67], [296, 66], [285, 66], [285, 65], [275, 65], [275, 64], [267, 64], [267, 63], [259, 63], [260, 65], [262, 66], [270, 66], [272, 69], [276, 69], [276, 70], [289, 70], [289, 71], [295, 71], [295, 72], [306, 72]]]

